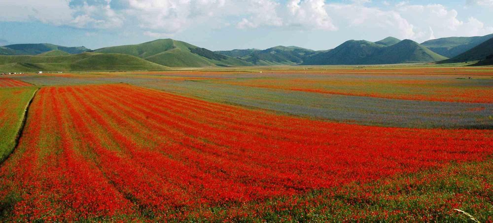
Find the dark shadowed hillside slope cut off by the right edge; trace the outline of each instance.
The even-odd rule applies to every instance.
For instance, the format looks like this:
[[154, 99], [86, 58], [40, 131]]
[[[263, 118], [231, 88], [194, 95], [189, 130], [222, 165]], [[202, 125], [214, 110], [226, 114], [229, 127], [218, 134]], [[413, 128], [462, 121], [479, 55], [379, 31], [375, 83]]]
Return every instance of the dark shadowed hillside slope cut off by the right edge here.
[[469, 61], [485, 60], [480, 62], [479, 64], [487, 65], [488, 61], [491, 60], [492, 55], [493, 55], [493, 38], [490, 38], [489, 40], [484, 41], [483, 43], [477, 45], [476, 47], [470, 50], [467, 50], [466, 52], [459, 54], [456, 57], [453, 57], [448, 60], [440, 61], [439, 63], [440, 64], [462, 63]]

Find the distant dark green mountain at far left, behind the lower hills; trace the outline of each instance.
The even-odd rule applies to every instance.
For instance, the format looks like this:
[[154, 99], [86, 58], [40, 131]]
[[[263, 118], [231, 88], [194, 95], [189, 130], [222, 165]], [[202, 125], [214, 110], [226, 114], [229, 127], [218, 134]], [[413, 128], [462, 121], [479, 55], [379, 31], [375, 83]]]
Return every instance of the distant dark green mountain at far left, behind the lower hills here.
[[13, 44], [0, 47], [0, 55], [38, 55], [53, 50], [77, 54], [89, 51], [90, 49], [84, 46], [68, 47], [50, 43]]

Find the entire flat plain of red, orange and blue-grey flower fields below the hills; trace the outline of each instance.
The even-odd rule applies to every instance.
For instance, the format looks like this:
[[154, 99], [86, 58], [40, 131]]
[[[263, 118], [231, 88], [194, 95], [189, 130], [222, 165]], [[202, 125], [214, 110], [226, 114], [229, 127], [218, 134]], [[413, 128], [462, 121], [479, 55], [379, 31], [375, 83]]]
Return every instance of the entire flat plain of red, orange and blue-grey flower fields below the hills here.
[[13, 75], [0, 219], [493, 220], [493, 70], [301, 69]]

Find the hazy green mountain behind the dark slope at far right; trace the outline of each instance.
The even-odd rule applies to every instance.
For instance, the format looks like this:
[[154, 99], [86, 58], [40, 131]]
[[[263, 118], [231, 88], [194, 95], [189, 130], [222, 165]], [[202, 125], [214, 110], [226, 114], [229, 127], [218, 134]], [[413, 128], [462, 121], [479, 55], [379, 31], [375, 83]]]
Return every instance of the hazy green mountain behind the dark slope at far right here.
[[421, 44], [435, 53], [452, 58], [491, 38], [493, 34], [483, 37], [445, 37], [428, 40]]

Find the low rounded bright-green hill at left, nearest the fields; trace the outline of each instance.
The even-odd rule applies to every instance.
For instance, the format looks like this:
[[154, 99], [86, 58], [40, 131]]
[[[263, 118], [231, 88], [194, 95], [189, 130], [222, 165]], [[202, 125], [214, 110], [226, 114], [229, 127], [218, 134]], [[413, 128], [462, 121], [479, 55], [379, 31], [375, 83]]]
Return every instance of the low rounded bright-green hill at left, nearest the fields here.
[[0, 72], [136, 71], [168, 67], [125, 54], [80, 53], [68, 56], [0, 56]]

